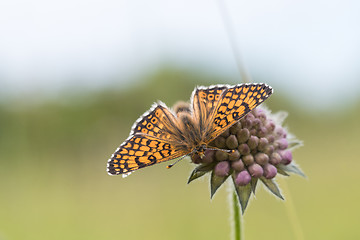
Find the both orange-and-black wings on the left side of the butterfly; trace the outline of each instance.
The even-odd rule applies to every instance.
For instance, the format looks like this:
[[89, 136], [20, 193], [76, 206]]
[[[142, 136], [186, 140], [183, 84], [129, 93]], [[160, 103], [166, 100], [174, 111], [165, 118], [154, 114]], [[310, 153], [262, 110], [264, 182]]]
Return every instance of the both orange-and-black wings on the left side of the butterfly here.
[[166, 106], [155, 104], [135, 122], [130, 137], [109, 159], [108, 173], [129, 173], [188, 154], [175, 138], [180, 131], [175, 121]]

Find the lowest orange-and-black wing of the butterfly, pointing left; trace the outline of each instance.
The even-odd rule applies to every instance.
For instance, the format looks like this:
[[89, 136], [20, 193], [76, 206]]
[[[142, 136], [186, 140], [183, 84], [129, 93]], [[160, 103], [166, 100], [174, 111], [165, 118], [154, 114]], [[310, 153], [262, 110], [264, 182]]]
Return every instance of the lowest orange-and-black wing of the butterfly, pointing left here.
[[126, 174], [188, 154], [171, 142], [145, 134], [129, 137], [108, 161], [110, 175]]

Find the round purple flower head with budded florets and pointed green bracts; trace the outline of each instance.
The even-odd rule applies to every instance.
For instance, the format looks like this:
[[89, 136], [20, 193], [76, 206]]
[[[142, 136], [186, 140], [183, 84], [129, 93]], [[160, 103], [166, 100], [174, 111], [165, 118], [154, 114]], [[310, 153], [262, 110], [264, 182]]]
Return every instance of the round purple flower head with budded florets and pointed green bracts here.
[[[174, 107], [176, 113], [188, 109], [188, 103], [184, 102]], [[203, 158], [196, 154], [191, 157], [198, 166], [192, 171], [188, 183], [211, 172], [212, 198], [231, 176], [243, 213], [251, 194], [255, 194], [258, 180], [283, 199], [275, 177], [278, 174], [289, 176], [290, 172], [305, 176], [292, 156], [292, 151], [302, 142], [282, 126], [286, 117], [285, 112], [272, 114], [265, 107], [252, 110], [214, 139]]]

